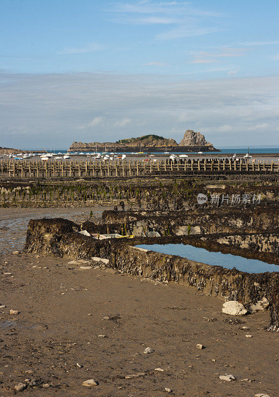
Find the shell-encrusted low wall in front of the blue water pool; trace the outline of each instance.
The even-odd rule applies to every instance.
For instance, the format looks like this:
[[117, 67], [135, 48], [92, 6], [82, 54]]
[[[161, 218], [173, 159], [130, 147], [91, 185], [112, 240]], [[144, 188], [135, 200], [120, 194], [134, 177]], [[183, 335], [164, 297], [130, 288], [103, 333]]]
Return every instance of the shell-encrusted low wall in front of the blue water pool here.
[[[205, 265], [177, 256], [139, 250], [132, 246], [132, 244], [154, 243], [154, 239], [135, 238], [131, 240], [100, 241], [81, 235], [78, 233], [79, 230], [79, 225], [61, 218], [31, 220], [27, 230], [24, 251], [56, 257], [66, 255], [74, 259], [106, 258], [109, 259], [107, 266], [116, 268], [119, 272], [144, 275], [159, 281], [172, 281], [194, 287], [197, 291], [224, 300], [238, 300], [249, 311], [252, 310], [253, 305], [256, 305], [258, 301], [265, 297], [270, 303], [271, 312], [271, 324], [268, 330], [279, 330], [278, 272], [249, 274], [235, 268], [225, 269], [221, 266]], [[176, 242], [184, 239], [185, 242], [185, 239], [187, 239], [192, 245], [206, 245], [209, 248], [211, 245], [214, 246], [214, 239], [216, 241], [222, 237], [224, 236], [218, 234], [210, 236], [210, 241], [205, 241], [205, 238], [201, 239], [198, 236], [184, 236], [183, 238], [175, 236], [158, 238], [156, 243], [159, 240], [162, 244], [173, 243], [174, 239], [177, 240]], [[194, 239], [196, 239], [196, 244], [193, 244]], [[222, 251], [230, 250], [231, 253], [237, 252], [238, 255], [241, 251], [249, 251], [240, 248], [232, 250], [230, 245], [216, 242], [216, 247], [219, 246], [223, 246]], [[267, 253], [260, 253], [259, 255], [263, 258], [272, 256], [272, 254]]]

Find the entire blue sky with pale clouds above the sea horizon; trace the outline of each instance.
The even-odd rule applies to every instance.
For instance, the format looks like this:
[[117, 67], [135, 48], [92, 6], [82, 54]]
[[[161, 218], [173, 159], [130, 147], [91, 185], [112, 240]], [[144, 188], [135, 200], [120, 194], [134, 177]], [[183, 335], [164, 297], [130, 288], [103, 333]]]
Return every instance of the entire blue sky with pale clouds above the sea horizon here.
[[279, 146], [279, 2], [0, 1], [0, 146]]

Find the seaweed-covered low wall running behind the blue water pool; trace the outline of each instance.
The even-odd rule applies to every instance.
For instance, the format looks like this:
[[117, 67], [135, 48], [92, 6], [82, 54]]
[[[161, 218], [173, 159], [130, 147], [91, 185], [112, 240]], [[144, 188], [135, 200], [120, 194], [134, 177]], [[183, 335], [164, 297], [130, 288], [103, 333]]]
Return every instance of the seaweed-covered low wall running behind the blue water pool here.
[[[103, 223], [125, 225], [126, 230], [140, 236], [144, 231], [161, 235], [261, 232], [276, 229], [279, 211], [273, 208], [222, 208], [189, 211], [104, 211]], [[89, 222], [86, 227], [89, 227]], [[119, 228], [118, 228], [119, 233]]]

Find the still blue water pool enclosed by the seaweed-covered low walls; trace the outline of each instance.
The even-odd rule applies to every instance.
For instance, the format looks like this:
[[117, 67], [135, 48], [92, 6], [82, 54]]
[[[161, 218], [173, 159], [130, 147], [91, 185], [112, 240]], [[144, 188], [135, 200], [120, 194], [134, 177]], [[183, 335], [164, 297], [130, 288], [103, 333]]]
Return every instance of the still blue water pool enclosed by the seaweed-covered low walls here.
[[279, 265], [270, 265], [257, 259], [247, 259], [231, 254], [222, 254], [221, 252], [210, 252], [204, 248], [193, 247], [184, 244], [151, 244], [137, 245], [135, 247], [144, 248], [160, 252], [162, 254], [178, 255], [192, 261], [202, 262], [208, 265], [223, 266], [226, 269], [235, 267], [238, 270], [247, 273], [264, 273], [266, 271], [279, 271]]

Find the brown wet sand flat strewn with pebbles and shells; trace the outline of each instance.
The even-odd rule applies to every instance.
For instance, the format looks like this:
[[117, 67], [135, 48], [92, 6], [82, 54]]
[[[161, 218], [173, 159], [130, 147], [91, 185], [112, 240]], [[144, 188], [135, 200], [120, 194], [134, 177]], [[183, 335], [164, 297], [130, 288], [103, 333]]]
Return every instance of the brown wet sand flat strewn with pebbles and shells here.
[[[9, 225], [6, 241], [16, 236], [11, 244], [20, 248], [29, 217], [81, 221], [89, 212], [2, 208], [0, 217]], [[171, 396], [276, 396], [278, 334], [264, 331], [268, 312], [231, 317], [223, 300], [192, 288], [7, 251], [0, 256], [0, 396], [12, 396], [25, 379], [41, 385], [22, 392], [30, 397], [163, 397], [165, 388]], [[144, 354], [148, 346], [154, 352]], [[236, 381], [220, 380], [224, 374]], [[99, 385], [87, 389], [87, 379]]]

